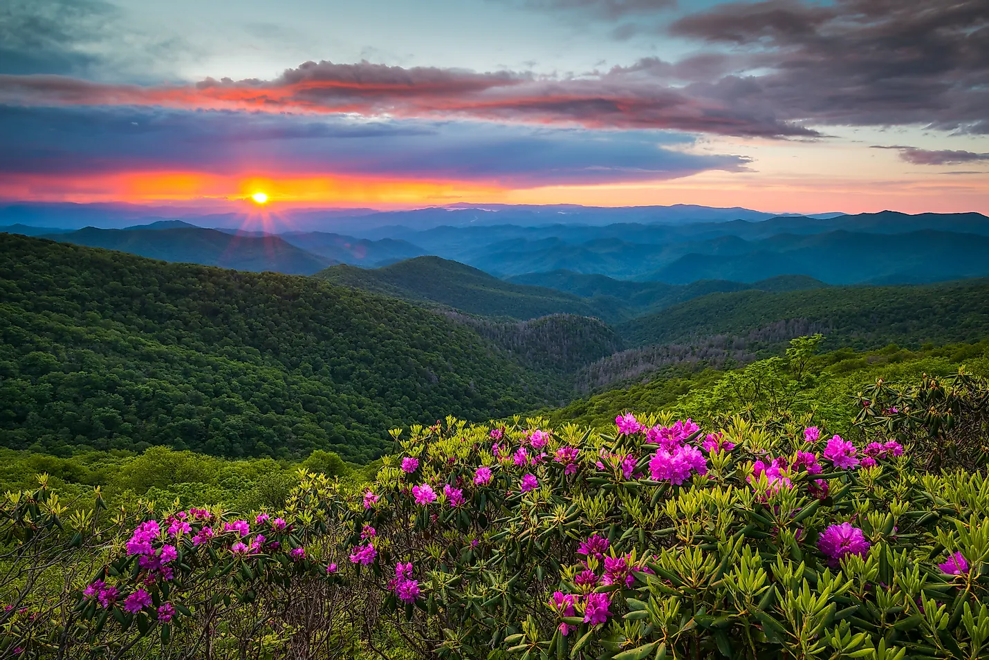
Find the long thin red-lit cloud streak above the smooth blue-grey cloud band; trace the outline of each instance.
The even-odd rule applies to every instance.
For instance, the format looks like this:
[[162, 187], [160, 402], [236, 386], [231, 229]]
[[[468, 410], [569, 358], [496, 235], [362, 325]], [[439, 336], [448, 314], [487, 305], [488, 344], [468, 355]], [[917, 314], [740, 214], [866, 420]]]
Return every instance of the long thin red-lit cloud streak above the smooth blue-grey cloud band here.
[[[737, 87], [737, 86], [736, 86]], [[472, 119], [589, 128], [668, 128], [728, 135], [813, 136], [772, 109], [721, 88], [720, 97], [663, 84], [648, 67], [556, 78], [499, 71], [306, 62], [274, 80], [207, 79], [138, 86], [66, 76], [0, 75], [0, 103]]]

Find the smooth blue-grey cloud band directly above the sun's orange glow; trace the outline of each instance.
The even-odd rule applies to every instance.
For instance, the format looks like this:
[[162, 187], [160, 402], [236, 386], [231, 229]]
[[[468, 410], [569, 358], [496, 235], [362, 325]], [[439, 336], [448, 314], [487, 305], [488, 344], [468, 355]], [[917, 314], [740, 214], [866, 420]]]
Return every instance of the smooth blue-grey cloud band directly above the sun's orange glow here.
[[537, 188], [655, 181], [748, 159], [685, 135], [149, 108], [0, 108], [0, 172], [323, 173]]

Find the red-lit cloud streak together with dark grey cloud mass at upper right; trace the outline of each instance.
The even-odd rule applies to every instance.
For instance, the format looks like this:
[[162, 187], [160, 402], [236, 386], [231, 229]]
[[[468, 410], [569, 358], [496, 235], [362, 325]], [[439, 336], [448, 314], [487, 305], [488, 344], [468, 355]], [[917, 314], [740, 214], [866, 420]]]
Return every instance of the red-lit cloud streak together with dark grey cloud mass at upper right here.
[[[24, 1], [24, 0], [20, 0]], [[65, 0], [68, 1], [68, 0]], [[272, 79], [135, 85], [0, 75], [0, 103], [358, 115], [815, 138], [825, 126], [923, 125], [989, 133], [989, 0], [728, 2], [659, 19], [649, 0], [529, 0], [623, 17], [692, 40], [582, 75], [306, 62]]]

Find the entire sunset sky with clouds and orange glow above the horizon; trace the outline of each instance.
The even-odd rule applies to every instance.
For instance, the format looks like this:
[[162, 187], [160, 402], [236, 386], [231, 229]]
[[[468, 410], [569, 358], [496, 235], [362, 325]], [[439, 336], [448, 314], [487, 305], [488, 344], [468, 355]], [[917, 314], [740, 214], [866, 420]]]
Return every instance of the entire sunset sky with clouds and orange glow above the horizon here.
[[989, 212], [989, 0], [6, 0], [0, 201]]

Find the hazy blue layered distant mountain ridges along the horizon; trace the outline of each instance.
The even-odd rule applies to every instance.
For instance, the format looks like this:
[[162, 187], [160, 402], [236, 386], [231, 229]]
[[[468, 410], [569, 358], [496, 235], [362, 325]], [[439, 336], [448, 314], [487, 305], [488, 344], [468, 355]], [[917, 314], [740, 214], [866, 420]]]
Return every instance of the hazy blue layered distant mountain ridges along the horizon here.
[[[0, 221], [64, 219], [55, 212], [67, 212], [63, 206], [7, 206], [0, 209]], [[82, 211], [81, 216], [93, 218], [93, 208]], [[46, 225], [43, 231], [38, 225], [15, 223], [7, 230], [165, 261], [300, 275], [335, 264], [375, 268], [425, 255], [497, 278], [568, 271], [669, 285], [705, 280], [753, 285], [793, 275], [829, 285], [925, 284], [989, 275], [989, 218], [980, 213], [769, 216], [702, 206], [444, 207], [361, 210], [363, 215], [354, 216], [327, 212], [323, 226], [350, 226], [353, 231], [276, 234], [249, 226], [197, 226], [224, 219], [217, 215], [188, 218], [194, 223], [156, 220], [121, 229]], [[108, 217], [107, 224], [119, 219]], [[451, 223], [438, 224], [442, 221]], [[388, 278], [394, 280], [394, 273]]]

